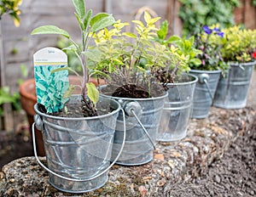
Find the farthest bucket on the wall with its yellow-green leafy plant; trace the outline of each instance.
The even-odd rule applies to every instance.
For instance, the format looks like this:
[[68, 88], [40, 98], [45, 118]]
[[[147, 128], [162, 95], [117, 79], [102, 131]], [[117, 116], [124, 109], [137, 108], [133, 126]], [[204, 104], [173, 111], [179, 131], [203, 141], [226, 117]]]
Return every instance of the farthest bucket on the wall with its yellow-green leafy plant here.
[[230, 69], [218, 82], [213, 105], [224, 109], [243, 108], [256, 64], [256, 30], [235, 25], [223, 31], [224, 37], [213, 42], [222, 46], [221, 55]]

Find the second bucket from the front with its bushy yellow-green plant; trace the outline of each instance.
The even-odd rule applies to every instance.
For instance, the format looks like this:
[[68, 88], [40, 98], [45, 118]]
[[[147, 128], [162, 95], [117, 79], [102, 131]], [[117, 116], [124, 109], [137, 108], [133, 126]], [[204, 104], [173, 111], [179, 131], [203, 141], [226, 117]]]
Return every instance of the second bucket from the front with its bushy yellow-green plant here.
[[[117, 161], [120, 165], [137, 166], [153, 159], [155, 138], [160, 126], [160, 114], [167, 97], [166, 84], [176, 75], [177, 67], [185, 65], [186, 58], [154, 41], [158, 29], [144, 12], [143, 21], [133, 20], [136, 32], [123, 31], [127, 23], [120, 21], [112, 29], [99, 31], [96, 46], [88, 51], [89, 59], [106, 86], [100, 87], [104, 97], [118, 100], [125, 109], [127, 135], [125, 147]], [[173, 70], [172, 76], [169, 74]], [[119, 120], [113, 155], [123, 138]]]

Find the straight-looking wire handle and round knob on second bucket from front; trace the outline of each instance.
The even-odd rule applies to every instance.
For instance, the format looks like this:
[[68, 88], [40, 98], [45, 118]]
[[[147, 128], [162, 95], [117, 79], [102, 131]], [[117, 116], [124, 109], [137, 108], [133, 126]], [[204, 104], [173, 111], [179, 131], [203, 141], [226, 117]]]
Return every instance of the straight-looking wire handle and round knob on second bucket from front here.
[[142, 113], [142, 106], [140, 104], [138, 104], [136, 101], [131, 101], [128, 104], [125, 104], [125, 112], [127, 115], [131, 115], [134, 116], [137, 120], [137, 122], [139, 123], [139, 125], [143, 128], [143, 132], [145, 132], [145, 134], [147, 135], [150, 143], [152, 144], [153, 148], [155, 149], [154, 146], [154, 142], [152, 140], [152, 138], [150, 137], [150, 135], [148, 134], [147, 129], [143, 126], [142, 121], [140, 121], [140, 119], [137, 117], [137, 114]]

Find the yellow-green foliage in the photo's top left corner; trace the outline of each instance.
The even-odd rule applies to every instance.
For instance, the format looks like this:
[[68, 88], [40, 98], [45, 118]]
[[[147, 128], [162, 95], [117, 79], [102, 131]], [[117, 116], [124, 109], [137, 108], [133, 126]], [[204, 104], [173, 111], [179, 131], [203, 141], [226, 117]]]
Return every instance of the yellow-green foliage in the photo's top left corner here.
[[14, 20], [15, 26], [20, 26], [20, 9], [18, 8], [22, 0], [2, 0], [0, 2], [0, 20], [3, 14], [9, 14]]

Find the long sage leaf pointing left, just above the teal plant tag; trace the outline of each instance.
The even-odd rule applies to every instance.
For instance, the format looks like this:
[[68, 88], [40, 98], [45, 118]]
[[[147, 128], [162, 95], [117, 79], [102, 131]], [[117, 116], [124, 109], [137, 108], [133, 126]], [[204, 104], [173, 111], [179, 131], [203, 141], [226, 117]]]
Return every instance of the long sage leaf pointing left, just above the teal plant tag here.
[[69, 38], [69, 34], [67, 31], [62, 30], [61, 28], [55, 25], [43, 25], [39, 26], [38, 28], [34, 29], [31, 33], [32, 35], [36, 34], [59, 34], [63, 37]]

